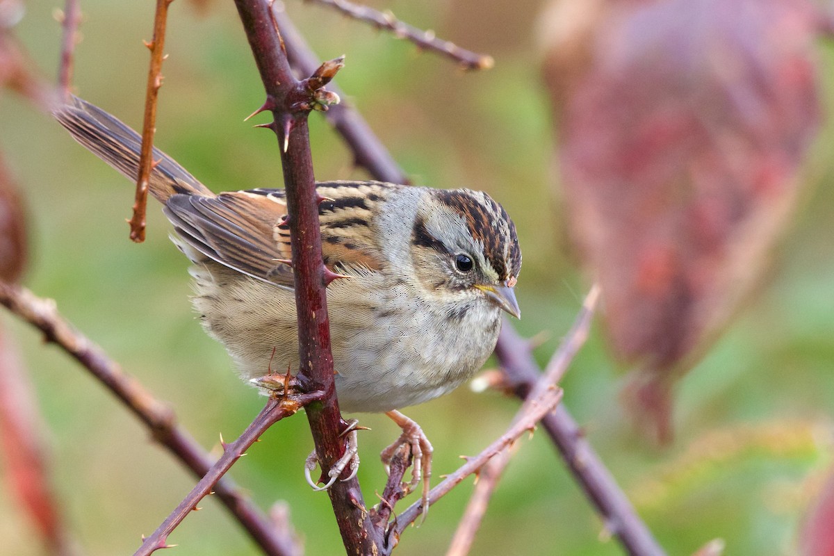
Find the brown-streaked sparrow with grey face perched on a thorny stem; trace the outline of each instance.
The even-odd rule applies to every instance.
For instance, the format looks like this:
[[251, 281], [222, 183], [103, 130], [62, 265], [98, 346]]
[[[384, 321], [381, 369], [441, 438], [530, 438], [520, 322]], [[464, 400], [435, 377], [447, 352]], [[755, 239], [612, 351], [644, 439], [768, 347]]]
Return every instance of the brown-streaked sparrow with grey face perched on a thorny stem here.
[[[80, 98], [53, 114], [78, 143], [136, 180], [142, 139], [133, 129]], [[148, 189], [193, 265], [193, 307], [206, 332], [224, 344], [244, 379], [258, 383], [269, 368], [298, 368], [284, 190], [215, 194], [156, 148], [153, 160]], [[348, 277], [327, 288], [339, 406], [386, 413], [403, 429], [382, 458], [387, 464], [401, 443], [412, 446], [406, 486], [423, 479], [425, 512], [431, 444], [399, 409], [471, 378], [495, 348], [501, 314], [520, 317], [515, 225], [489, 195], [470, 189], [334, 181], [317, 183], [317, 191], [325, 198], [324, 264]], [[308, 458], [317, 489], [344, 470], [331, 469], [319, 488], [309, 479], [314, 465]]]

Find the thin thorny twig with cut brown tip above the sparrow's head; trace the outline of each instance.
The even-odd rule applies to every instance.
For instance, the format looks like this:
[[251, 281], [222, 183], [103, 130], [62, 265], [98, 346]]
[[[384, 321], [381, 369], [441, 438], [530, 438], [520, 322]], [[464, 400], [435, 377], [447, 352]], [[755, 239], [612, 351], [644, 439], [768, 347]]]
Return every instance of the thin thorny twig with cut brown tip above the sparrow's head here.
[[440, 53], [446, 58], [451, 58], [467, 70], [490, 69], [495, 65], [495, 60], [486, 54], [478, 54], [460, 48], [455, 43], [443, 41], [435, 37], [434, 31], [423, 31], [408, 23], [403, 23], [390, 12], [378, 12], [374, 8], [361, 6], [347, 2], [347, 0], [304, 0], [305, 2], [319, 4], [327, 8], [334, 8], [344, 15], [369, 23], [374, 28], [384, 29], [394, 33], [396, 38], [404, 38], [417, 45], [418, 48]]

